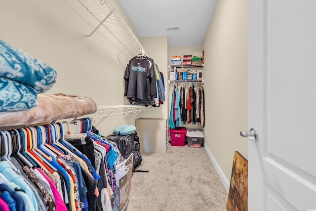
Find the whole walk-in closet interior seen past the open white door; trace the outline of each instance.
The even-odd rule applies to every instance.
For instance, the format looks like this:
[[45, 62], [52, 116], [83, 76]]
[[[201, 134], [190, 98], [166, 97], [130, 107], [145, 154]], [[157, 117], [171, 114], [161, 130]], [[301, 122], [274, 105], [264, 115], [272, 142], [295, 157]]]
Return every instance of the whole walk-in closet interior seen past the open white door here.
[[[0, 210], [226, 210], [247, 3], [1, 1]], [[111, 139], [129, 134], [137, 166]]]

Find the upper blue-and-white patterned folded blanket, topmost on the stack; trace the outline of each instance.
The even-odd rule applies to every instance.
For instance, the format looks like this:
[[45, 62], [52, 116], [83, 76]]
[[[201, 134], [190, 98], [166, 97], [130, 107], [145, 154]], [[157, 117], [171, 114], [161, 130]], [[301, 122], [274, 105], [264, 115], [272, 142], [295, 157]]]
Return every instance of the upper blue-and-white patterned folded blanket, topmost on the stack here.
[[43, 93], [56, 83], [57, 72], [0, 39], [0, 77], [27, 84], [38, 93]]

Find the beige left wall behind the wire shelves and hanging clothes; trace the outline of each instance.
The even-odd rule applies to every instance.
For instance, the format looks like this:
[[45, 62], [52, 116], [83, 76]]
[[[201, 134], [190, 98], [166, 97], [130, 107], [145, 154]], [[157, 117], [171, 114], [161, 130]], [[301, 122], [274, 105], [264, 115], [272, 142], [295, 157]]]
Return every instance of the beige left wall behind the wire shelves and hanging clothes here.
[[[113, 3], [130, 23], [118, 0]], [[89, 40], [97, 25], [78, 0], [0, 1], [0, 39], [56, 69], [57, 82], [47, 94], [89, 95], [99, 106], [122, 105], [123, 75], [133, 55], [125, 50], [117, 58], [124, 46], [102, 26]], [[134, 124], [128, 117], [108, 117], [98, 129], [107, 135], [117, 125]]]

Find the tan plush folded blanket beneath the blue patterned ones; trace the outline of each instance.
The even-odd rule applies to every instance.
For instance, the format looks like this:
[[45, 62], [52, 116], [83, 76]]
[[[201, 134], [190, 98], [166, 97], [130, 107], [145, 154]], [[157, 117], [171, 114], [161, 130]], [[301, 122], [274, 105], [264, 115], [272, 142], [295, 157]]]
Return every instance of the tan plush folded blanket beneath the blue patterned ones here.
[[38, 94], [39, 105], [26, 111], [0, 112], [0, 127], [24, 126], [75, 118], [97, 111], [92, 97], [70, 94]]

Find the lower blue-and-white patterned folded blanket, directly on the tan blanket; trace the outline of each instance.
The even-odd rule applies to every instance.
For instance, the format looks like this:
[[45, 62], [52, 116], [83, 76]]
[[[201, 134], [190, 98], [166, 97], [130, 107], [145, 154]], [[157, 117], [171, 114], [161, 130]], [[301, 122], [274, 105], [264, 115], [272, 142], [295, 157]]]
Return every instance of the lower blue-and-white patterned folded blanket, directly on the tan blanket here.
[[0, 77], [0, 111], [24, 111], [38, 105], [34, 88]]

